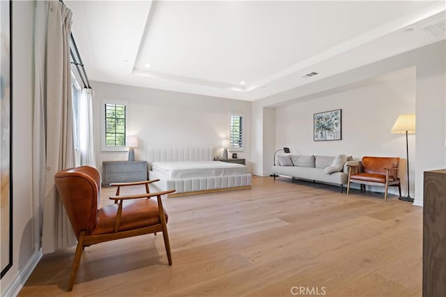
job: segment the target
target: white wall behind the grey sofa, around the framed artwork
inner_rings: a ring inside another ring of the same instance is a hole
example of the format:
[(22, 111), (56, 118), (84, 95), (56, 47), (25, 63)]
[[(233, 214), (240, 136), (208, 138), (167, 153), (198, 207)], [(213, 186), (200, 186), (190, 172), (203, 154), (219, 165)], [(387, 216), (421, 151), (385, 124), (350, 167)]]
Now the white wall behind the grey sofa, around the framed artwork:
[[(276, 109), (277, 147), (289, 146), (291, 153), (338, 155), (344, 153), (401, 158), (399, 176), (406, 186), (406, 137), (390, 133), (399, 114), (415, 113), (415, 69), (409, 77), (372, 84), (314, 100)], [(313, 141), (313, 114), (342, 109), (342, 140)], [(415, 137), (409, 135), (410, 192), (415, 195)], [(272, 162), (272, 161), (271, 161)], [(394, 189), (396, 190), (396, 189)], [(406, 191), (407, 192), (407, 191)]]

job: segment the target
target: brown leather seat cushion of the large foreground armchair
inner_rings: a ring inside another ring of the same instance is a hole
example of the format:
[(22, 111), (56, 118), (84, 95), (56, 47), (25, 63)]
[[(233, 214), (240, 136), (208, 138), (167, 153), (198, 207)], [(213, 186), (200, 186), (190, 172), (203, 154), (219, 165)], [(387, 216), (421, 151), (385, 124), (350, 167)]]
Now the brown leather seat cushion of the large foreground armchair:
[[(114, 224), (118, 204), (107, 205), (99, 209), (96, 227), (91, 234), (114, 233)], [(167, 213), (164, 211), (167, 222)], [(123, 201), (123, 213), (118, 231), (149, 227), (160, 224), (158, 203), (153, 199), (134, 199)]]

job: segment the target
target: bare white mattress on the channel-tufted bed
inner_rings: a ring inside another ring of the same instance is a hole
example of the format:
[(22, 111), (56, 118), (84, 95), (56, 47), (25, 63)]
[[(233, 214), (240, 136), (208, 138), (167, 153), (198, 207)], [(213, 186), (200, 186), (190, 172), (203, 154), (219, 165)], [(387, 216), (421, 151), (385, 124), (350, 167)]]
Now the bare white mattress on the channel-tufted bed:
[(153, 162), (152, 172), (169, 180), (247, 174), (247, 168), (219, 161)]

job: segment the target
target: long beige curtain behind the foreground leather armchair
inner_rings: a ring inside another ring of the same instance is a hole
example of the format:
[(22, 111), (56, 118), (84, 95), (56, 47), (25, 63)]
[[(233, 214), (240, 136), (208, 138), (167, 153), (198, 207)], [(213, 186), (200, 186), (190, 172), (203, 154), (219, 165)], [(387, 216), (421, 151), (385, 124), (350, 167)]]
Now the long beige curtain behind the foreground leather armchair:
[[(36, 36), (33, 193), (40, 211), (43, 209), (42, 248), (46, 254), (76, 244), (54, 185), (56, 172), (75, 165), (70, 74), (72, 13), (60, 1), (36, 2), (36, 14), (40, 14), (36, 15), (36, 28), (45, 31), (40, 35), (46, 43), (39, 44)], [(46, 27), (42, 25), (45, 17)], [(42, 146), (45, 146), (45, 155), (38, 153)]]

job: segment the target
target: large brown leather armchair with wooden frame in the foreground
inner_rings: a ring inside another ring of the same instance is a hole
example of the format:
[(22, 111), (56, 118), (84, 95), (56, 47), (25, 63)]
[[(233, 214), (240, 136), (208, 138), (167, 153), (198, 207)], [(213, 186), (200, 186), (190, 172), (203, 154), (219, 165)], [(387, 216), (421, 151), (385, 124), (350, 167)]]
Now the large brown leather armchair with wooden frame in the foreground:
[[(74, 285), (82, 251), (95, 243), (162, 232), (167, 259), (169, 265), (172, 264), (167, 234), (167, 213), (162, 207), (161, 196), (175, 190), (150, 193), (148, 183), (154, 181), (120, 183), (118, 189), (124, 185), (146, 185), (146, 194), (118, 196), (117, 191), (116, 197), (110, 197), (115, 204), (98, 209), (100, 174), (97, 169), (89, 166), (66, 169), (58, 172), (54, 180), (77, 237), (69, 291)], [(151, 197), (157, 197), (157, 201), (150, 199)]]

